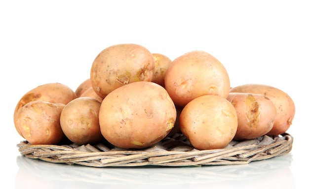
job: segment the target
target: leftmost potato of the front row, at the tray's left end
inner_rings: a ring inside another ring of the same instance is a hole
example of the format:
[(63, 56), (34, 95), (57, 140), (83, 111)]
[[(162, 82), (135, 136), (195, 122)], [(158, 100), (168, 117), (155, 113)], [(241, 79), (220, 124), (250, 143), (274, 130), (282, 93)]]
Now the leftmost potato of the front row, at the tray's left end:
[(59, 144), (65, 135), (60, 115), (65, 104), (32, 101), (16, 114), (16, 126), (31, 144)]

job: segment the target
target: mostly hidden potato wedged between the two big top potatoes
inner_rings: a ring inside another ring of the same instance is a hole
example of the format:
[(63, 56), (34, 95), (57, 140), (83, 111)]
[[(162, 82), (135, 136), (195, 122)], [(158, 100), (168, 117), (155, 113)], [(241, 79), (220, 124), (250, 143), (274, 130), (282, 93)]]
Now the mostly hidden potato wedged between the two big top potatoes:
[(154, 77), (153, 82), (164, 87), (164, 76), (166, 69), (172, 61), (165, 55), (153, 53), (154, 56)]

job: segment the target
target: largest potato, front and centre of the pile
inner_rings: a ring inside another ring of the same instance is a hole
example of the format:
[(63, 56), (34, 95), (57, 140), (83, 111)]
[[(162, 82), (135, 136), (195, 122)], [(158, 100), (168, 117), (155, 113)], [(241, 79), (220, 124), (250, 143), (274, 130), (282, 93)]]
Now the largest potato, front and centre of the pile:
[(153, 82), (123, 85), (102, 101), (101, 133), (111, 144), (124, 149), (142, 149), (163, 139), (176, 120), (174, 102), (166, 90)]

